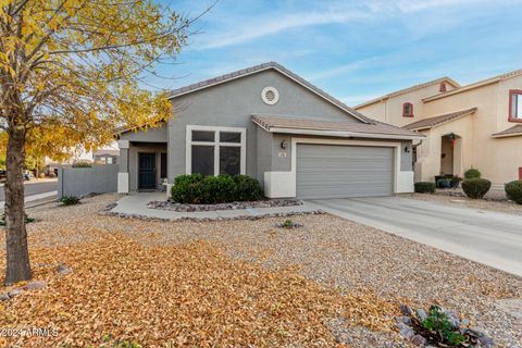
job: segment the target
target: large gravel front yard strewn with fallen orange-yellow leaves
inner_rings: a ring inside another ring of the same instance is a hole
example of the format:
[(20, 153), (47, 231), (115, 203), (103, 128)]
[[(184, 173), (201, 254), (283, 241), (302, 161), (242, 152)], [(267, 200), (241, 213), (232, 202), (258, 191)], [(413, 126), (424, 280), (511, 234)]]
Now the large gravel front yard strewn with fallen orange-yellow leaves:
[[(161, 222), (98, 214), (115, 199), (103, 195), (78, 207), (29, 211), (38, 219), (28, 225), (35, 279), (47, 286), (0, 302), (8, 314), (0, 316), (0, 326), (54, 322), (74, 343), (86, 343), (86, 333), (95, 339), (116, 332), (154, 347), (154, 333), (138, 328), (150, 321), (160, 337), (192, 330), (192, 336), (184, 335), (192, 345), (204, 327), (209, 346), (405, 347), (409, 343), (395, 328), (399, 304), (437, 303), (470, 319), (499, 347), (522, 346), (520, 320), (499, 306), (522, 298), (522, 279), (515, 276), (327, 214), (293, 216), (299, 228), (275, 226), (286, 217)], [(3, 266), (3, 240), (0, 248)], [(60, 261), (73, 271), (55, 278)], [(75, 295), (64, 298), (72, 289)], [(177, 297), (184, 289), (197, 297), (188, 302), (191, 310)], [(77, 297), (90, 302), (80, 306)], [(64, 303), (54, 309), (46, 301)], [(99, 301), (107, 307), (96, 318)], [(144, 301), (144, 313), (130, 309)], [(181, 306), (176, 321), (162, 314), (165, 303)], [(207, 306), (216, 313), (209, 314)], [(75, 324), (62, 312), (77, 315)], [(122, 331), (115, 318), (138, 326)], [(165, 320), (170, 332), (162, 326)]]

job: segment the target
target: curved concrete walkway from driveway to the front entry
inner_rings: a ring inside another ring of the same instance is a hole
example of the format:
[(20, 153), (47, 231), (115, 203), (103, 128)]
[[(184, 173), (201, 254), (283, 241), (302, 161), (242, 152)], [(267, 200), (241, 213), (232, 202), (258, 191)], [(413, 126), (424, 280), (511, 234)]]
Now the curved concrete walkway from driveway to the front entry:
[(198, 211), (198, 212), (175, 212), (161, 209), (149, 209), (147, 203), (154, 200), (165, 200), (165, 194), (132, 194), (122, 197), (117, 201), (117, 206), (111, 209), (112, 213), (141, 215), (147, 217), (156, 217), (163, 220), (182, 220), (182, 219), (240, 219), (252, 217), (268, 214), (293, 214), (314, 212), (318, 209), (309, 204), (294, 207), (275, 207), (275, 208), (256, 208), (256, 209), (236, 209), (236, 210), (216, 210), (216, 211)]

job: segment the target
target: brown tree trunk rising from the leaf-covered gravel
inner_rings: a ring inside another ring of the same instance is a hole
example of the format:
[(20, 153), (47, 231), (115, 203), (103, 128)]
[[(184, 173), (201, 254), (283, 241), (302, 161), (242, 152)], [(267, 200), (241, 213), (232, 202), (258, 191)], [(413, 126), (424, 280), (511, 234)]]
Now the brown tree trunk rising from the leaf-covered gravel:
[(32, 277), (27, 233), (25, 231), (24, 181), (25, 129), (10, 125), (8, 129), (7, 182), (5, 182), (5, 285)]

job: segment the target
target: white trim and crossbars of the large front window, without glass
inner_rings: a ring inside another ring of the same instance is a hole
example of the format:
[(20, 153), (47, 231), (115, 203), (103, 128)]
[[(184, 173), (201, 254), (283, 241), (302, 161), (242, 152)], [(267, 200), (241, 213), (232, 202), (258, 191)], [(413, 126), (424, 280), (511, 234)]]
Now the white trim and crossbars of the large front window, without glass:
[[(192, 141), (192, 130), (214, 132), (214, 141)], [(240, 142), (220, 142), (220, 132), (236, 132), (241, 134)], [(247, 172), (247, 128), (243, 127), (216, 127), (187, 125), (186, 145), (185, 145), (185, 173), (192, 174), (192, 145), (213, 146), (214, 147), (214, 175), (220, 174), (220, 147), (234, 146), (241, 148), (240, 174)]]

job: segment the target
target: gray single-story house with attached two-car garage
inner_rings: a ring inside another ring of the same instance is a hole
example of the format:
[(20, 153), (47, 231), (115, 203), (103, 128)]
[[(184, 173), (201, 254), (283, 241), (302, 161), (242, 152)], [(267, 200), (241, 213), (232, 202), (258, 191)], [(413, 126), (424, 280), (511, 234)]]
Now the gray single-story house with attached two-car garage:
[(182, 174), (246, 174), (269, 198), (389, 196), (413, 190), (412, 141), (270, 62), (170, 94), (159, 128), (119, 135), (120, 192)]

